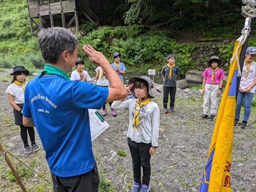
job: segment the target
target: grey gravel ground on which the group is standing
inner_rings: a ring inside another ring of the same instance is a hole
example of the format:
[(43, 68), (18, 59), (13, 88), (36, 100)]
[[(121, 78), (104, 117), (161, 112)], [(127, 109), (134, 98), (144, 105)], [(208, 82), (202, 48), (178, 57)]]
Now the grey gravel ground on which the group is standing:
[[(7, 80), (7, 82), (6, 82)], [(51, 181), (44, 158), (42, 144), (38, 152), (26, 155), (22, 150), (20, 130), (14, 125), (12, 108), (8, 102), (6, 88), (10, 85), (10, 76), (0, 72), (0, 143), (5, 150), (22, 162), (31, 165), (36, 161), (34, 170)], [(160, 106), (159, 148), (152, 155), (151, 192), (197, 192), (200, 188), (204, 166), (214, 123), (201, 120), (203, 97), (199, 91), (177, 90), (174, 112), (163, 114), (162, 93), (153, 90), (154, 101)], [(108, 115), (105, 120), (110, 127), (93, 141), (94, 155), (98, 169), (114, 187), (115, 192), (130, 191), (132, 181), (132, 161), (127, 145), (128, 110), (117, 111), (118, 116)], [(100, 110), (100, 113), (102, 110)], [(252, 111), (248, 129), (234, 128), (233, 155), (231, 166), (231, 184), (234, 192), (256, 191), (256, 110)], [(127, 156), (119, 156), (122, 150)], [(10, 158), (10, 157), (9, 157)], [(11, 158), (13, 160), (13, 158)], [(17, 161), (14, 160), (13, 163)], [(20, 173), (19, 173), (20, 174)], [(5, 192), (4, 163), (0, 156), (0, 191)], [(43, 180), (36, 174), (22, 178), (24, 186), (32, 191)], [(52, 191), (50, 184), (41, 184), (44, 188), (35, 191)], [(21, 191), (17, 184), (8, 184), (9, 191)]]

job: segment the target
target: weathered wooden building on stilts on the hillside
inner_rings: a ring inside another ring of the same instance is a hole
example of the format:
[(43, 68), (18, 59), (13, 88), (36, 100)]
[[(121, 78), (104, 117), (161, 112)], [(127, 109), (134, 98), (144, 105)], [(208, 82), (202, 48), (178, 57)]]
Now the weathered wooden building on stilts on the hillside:
[[(39, 29), (48, 26), (69, 28), (75, 21), (78, 32), (78, 19), (99, 22), (97, 15), (102, 13), (102, 0), (27, 0), (31, 32), (33, 23)], [(34, 20), (39, 18), (39, 24)]]

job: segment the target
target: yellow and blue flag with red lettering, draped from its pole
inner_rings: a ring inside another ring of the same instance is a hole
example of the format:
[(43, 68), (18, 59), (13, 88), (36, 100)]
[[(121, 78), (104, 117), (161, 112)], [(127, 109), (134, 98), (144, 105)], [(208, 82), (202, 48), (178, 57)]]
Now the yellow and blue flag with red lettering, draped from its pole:
[[(238, 75), (241, 36), (236, 40), (228, 80), (220, 102), (212, 141), (202, 177), (200, 192), (231, 192), (230, 168), (232, 159), (233, 127), (236, 110), (236, 80)], [(234, 57), (233, 57), (234, 58)]]

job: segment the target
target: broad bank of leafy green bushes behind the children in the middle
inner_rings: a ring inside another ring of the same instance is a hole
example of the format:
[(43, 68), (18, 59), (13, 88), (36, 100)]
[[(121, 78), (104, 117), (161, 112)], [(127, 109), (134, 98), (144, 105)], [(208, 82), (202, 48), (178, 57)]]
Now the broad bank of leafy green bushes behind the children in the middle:
[[(147, 73), (149, 68), (160, 71), (167, 64), (166, 57), (170, 53), (177, 55), (176, 64), (182, 75), (193, 63), (191, 54), (197, 47), (192, 44), (178, 44), (170, 38), (170, 32), (148, 31), (144, 26), (133, 25), (129, 27), (101, 27), (94, 30), (86, 37), (78, 36), (82, 44), (90, 44), (96, 50), (103, 52), (110, 63), (113, 62), (112, 54), (122, 54), (128, 72)], [(79, 48), (78, 56), (84, 62), (86, 70), (94, 70), (95, 66), (87, 55)]]

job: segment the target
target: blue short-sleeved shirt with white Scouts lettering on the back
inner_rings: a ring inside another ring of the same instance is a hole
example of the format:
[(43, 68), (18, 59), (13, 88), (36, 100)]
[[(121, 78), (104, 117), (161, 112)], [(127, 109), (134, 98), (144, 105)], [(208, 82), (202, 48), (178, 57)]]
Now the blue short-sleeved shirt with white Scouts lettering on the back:
[(52, 75), (30, 80), (24, 95), (23, 116), (34, 120), (50, 171), (70, 177), (92, 170), (88, 108), (100, 109), (108, 88)]

